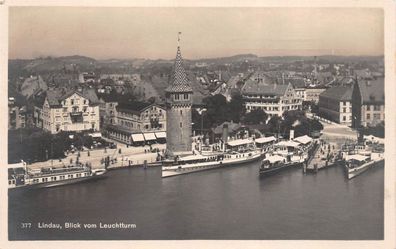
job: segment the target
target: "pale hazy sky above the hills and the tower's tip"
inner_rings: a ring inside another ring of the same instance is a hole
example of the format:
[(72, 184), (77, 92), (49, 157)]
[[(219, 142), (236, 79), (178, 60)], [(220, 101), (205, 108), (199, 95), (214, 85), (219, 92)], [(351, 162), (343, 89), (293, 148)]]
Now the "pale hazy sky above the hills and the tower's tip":
[(10, 7), (9, 58), (383, 55), (374, 8)]

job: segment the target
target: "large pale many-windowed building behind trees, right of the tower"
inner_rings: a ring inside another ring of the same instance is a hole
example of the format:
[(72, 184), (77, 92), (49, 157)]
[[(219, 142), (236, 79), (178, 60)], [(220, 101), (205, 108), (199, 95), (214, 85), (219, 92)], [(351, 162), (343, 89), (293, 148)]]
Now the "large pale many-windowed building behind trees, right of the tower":
[(270, 117), (282, 116), (285, 111), (302, 107), (302, 99), (291, 83), (277, 84), (265, 74), (256, 80), (248, 79), (242, 88), (242, 96), (247, 112), (262, 109)]

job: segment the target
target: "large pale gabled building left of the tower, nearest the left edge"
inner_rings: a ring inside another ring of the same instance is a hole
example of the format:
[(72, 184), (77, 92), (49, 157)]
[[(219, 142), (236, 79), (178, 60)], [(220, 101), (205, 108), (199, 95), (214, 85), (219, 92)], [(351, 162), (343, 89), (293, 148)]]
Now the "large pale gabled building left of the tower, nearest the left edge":
[(42, 100), (34, 108), (37, 127), (52, 134), (100, 129), (99, 100), (93, 89), (48, 90)]

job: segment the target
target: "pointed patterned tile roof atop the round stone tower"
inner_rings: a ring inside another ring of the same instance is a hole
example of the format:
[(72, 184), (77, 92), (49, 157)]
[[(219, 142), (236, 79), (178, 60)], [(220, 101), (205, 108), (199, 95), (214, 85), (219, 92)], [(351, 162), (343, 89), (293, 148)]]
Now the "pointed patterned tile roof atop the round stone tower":
[(192, 92), (193, 89), (187, 78), (183, 67), (183, 58), (180, 52), (180, 46), (177, 47), (174, 72), (171, 84), (166, 88), (166, 92)]

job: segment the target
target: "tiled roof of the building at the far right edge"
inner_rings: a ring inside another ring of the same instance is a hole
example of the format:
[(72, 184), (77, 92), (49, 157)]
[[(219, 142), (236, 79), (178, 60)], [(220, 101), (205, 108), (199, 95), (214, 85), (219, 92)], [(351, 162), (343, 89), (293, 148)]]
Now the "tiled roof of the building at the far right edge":
[(375, 80), (359, 80), (360, 93), (362, 95), (363, 103), (384, 103), (384, 78), (377, 78)]

